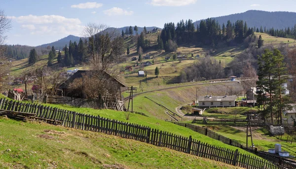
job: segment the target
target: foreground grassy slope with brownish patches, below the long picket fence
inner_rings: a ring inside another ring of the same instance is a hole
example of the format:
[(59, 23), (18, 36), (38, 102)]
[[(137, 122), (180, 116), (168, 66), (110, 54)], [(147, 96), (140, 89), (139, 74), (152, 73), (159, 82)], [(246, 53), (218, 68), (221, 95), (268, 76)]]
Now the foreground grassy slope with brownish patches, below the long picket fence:
[(1, 169), (236, 169), (113, 135), (0, 118)]

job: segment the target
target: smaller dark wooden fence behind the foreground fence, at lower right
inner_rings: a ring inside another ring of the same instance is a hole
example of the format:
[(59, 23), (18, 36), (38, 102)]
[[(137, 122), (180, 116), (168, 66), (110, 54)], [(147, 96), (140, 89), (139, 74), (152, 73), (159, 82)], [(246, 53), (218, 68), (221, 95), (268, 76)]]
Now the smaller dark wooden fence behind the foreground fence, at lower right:
[(274, 155), (271, 155), (271, 154), (268, 154), (265, 152), (258, 151), (257, 148), (253, 149), (251, 147), (246, 147), (246, 146), (242, 145), (240, 142), (230, 139), (228, 137), (225, 137), (223, 135), (220, 135), (216, 132), (213, 132), (212, 130), (210, 130), (206, 127), (196, 126), (196, 125), (192, 125), (189, 123), (182, 123), (182, 122), (172, 122), (172, 123), (177, 124), (179, 126), (189, 128), (189, 129), (193, 130), (194, 132), (200, 133), (202, 135), (207, 135), (213, 139), (220, 140), (225, 144), (239, 147), (239, 148), (246, 150), (250, 153), (256, 154), (259, 157), (262, 157), (268, 161), (272, 161), (275, 164), (279, 164), (280, 166), (283, 167), (283, 169), (296, 169), (296, 162), (294, 162), (294, 161), (282, 159), (281, 157), (277, 157), (277, 156), (274, 156)]

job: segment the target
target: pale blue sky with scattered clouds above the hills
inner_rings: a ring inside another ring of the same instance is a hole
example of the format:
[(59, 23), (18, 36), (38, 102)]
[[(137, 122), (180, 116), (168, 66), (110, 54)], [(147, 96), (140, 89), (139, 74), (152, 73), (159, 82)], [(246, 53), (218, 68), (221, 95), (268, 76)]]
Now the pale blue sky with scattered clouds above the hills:
[(163, 28), (182, 19), (197, 21), (247, 10), (296, 12), (295, 0), (0, 0), (12, 21), (6, 44), (37, 46), (73, 34), (88, 23)]

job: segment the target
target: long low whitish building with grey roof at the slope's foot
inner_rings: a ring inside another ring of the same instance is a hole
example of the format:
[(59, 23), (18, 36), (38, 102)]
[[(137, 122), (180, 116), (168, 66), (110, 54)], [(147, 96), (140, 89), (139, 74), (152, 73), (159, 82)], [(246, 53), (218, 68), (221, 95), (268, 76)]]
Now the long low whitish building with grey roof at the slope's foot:
[(234, 107), (236, 96), (205, 96), (198, 98), (199, 107)]

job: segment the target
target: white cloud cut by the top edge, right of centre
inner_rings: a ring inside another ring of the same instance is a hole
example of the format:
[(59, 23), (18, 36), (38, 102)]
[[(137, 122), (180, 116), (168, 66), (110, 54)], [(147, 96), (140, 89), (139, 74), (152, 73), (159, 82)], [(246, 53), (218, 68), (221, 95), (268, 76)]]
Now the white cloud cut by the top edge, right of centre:
[(185, 6), (195, 3), (197, 0), (151, 0), (153, 6)]

